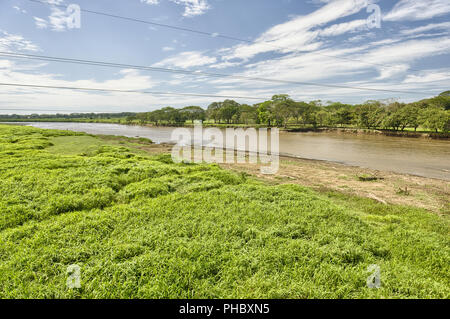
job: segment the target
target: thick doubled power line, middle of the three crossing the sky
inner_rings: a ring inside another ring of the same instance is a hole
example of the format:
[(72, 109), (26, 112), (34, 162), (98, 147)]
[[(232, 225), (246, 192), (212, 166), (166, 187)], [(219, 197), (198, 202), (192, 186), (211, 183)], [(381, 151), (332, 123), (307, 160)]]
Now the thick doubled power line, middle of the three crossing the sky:
[(299, 82), (299, 81), (289, 81), (289, 80), (279, 80), (279, 79), (268, 79), (268, 78), (249, 77), (249, 76), (233, 75), (233, 74), (212, 73), (212, 72), (203, 72), (203, 71), (189, 71), (189, 70), (181, 70), (181, 69), (162, 68), (162, 67), (149, 67), (149, 66), (142, 66), (142, 65), (112, 63), (112, 62), (105, 62), (105, 61), (60, 58), (60, 57), (52, 57), (52, 56), (45, 56), (45, 55), (22, 54), (22, 53), (16, 53), (16, 52), (0, 51), (0, 56), (10, 57), (10, 58), (23, 58), (23, 59), (32, 59), (32, 60), (40, 60), (40, 61), (49, 61), (49, 62), (72, 63), (72, 64), (80, 64), (80, 65), (92, 65), (92, 66), (103, 66), (103, 67), (113, 67), (113, 68), (128, 68), (128, 69), (136, 69), (136, 70), (143, 70), (143, 71), (150, 71), (150, 72), (165, 72), (165, 73), (207, 76), (207, 77), (216, 77), (216, 78), (224, 78), (225, 77), (225, 78), (234, 78), (234, 79), (239, 79), (239, 80), (262, 81), (262, 82), (291, 84), (291, 85), (309, 85), (309, 86), (318, 86), (318, 87), (327, 87), (327, 88), (340, 88), (340, 89), (389, 92), (389, 93), (403, 93), (403, 94), (419, 94), (419, 95), (429, 95), (430, 94), (429, 92), (425, 93), (425, 92), (418, 92), (418, 91), (389, 90), (389, 89), (357, 87), (357, 86), (349, 86), (349, 85), (323, 84), (323, 83), (313, 83), (313, 82)]

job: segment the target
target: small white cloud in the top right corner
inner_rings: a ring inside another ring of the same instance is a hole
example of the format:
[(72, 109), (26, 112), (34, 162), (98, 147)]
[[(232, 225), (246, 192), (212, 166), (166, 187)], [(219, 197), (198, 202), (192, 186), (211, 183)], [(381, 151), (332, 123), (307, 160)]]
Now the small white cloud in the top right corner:
[(387, 13), (385, 21), (425, 20), (450, 12), (449, 0), (400, 0)]

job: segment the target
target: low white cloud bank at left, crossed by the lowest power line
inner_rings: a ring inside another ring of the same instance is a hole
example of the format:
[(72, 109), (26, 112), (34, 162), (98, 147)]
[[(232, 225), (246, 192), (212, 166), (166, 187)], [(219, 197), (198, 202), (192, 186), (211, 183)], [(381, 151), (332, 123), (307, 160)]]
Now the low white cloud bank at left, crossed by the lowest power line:
[[(149, 90), (158, 82), (148, 75), (142, 75), (137, 70), (121, 70), (113, 79), (97, 81), (94, 79), (65, 80), (58, 74), (45, 72), (18, 71), (18, 65), (8, 60), (0, 60), (0, 82), (38, 84), (44, 86), (69, 86), (119, 90)], [(208, 98), (200, 99), (209, 100)], [(184, 103), (195, 104), (198, 98), (183, 98), (176, 96), (158, 96), (135, 93), (101, 93), (73, 90), (58, 90), (46, 88), (20, 88), (0, 86), (0, 101), (2, 108), (64, 109), (67, 112), (111, 112), (111, 111), (148, 111), (167, 103), (180, 106)], [(124, 108), (124, 106), (127, 106)], [(20, 107), (18, 107), (20, 106)], [(8, 111), (9, 113), (18, 113)], [(31, 113), (26, 111), (24, 113)], [(51, 112), (47, 112), (51, 113)]]

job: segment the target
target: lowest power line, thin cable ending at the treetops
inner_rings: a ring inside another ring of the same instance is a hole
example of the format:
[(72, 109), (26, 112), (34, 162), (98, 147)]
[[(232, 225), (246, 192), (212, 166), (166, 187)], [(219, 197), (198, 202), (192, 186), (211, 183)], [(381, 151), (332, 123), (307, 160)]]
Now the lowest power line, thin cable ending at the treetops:
[(265, 100), (266, 99), (263, 97), (250, 97), (250, 96), (230, 96), (230, 95), (212, 95), (212, 94), (200, 94), (200, 93), (157, 92), (157, 91), (140, 91), (140, 90), (119, 90), (119, 89), (85, 88), (85, 87), (74, 87), (74, 86), (52, 86), (52, 85), (19, 84), (19, 83), (0, 83), (0, 86), (94, 91), (94, 92), (112, 92), (112, 93), (142, 93), (142, 94), (151, 94), (151, 95), (170, 95), (170, 96), (217, 97), (217, 98), (225, 98), (225, 99), (247, 99), (247, 100)]

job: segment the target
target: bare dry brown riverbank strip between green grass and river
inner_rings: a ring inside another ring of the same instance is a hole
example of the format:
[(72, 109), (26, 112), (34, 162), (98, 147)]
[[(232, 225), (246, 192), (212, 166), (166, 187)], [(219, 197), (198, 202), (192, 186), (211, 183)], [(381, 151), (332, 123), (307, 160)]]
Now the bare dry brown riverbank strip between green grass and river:
[[(116, 139), (99, 136), (105, 141)], [(133, 146), (148, 154), (170, 154), (171, 144)], [(410, 174), (373, 170), (328, 161), (281, 156), (280, 169), (274, 175), (263, 175), (254, 164), (220, 164), (221, 167), (248, 174), (270, 185), (298, 184), (324, 195), (339, 193), (394, 204), (427, 209), (450, 216), (450, 182)]]

